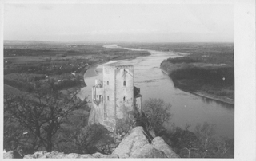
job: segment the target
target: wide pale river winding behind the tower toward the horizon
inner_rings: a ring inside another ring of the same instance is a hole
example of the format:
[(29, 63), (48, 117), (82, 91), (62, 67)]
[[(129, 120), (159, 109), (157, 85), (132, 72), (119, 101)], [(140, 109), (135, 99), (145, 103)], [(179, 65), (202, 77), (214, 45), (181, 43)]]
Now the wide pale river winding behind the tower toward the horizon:
[[(104, 47), (120, 48), (118, 45), (104, 45)], [(208, 122), (216, 125), (216, 136), (234, 138), (234, 105), (183, 92), (175, 88), (170, 77), (160, 69), (160, 64), (164, 59), (182, 57), (182, 53), (147, 49), (130, 50), (146, 50), (151, 55), (108, 63), (118, 62), (122, 65), (134, 65), (134, 85), (141, 88), (142, 101), (149, 98), (160, 98), (166, 104), (171, 104), (170, 112), (173, 116), (170, 123), (166, 125), (167, 128), (171, 127), (173, 123), (181, 128), (185, 128), (186, 124), (191, 124), (190, 130), (194, 131), (197, 124)], [(102, 65), (95, 65), (87, 70), (84, 78), (87, 86), (81, 89), (78, 96), (91, 100), (91, 88), (94, 85), (94, 80), (102, 79)]]

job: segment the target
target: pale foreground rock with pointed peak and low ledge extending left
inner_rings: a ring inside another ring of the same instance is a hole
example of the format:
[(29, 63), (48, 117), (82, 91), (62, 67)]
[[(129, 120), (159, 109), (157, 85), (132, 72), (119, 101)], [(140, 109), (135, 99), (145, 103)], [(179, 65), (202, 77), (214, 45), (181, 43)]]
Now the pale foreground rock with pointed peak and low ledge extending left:
[[(39, 158), (178, 158), (179, 156), (166, 144), (161, 137), (150, 140), (142, 127), (136, 127), (122, 139), (122, 142), (111, 155), (95, 153), (80, 155), (75, 153), (37, 151), (33, 155), (25, 155), (24, 159)], [(13, 151), (4, 154), (4, 159), (14, 158)]]

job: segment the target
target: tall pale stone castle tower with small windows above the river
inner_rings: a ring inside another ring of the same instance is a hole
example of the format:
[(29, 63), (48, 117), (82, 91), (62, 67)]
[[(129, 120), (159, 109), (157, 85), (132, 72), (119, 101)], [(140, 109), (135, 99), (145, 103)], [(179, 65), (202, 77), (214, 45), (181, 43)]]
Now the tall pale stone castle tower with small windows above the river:
[(115, 129), (117, 120), (142, 111), (140, 88), (134, 87), (133, 65), (103, 65), (103, 81), (95, 80), (89, 124)]

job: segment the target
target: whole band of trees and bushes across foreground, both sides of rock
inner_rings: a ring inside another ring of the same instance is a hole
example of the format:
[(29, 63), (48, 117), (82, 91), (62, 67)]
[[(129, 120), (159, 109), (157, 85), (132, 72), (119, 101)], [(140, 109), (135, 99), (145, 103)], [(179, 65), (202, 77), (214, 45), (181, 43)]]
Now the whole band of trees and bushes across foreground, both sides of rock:
[(181, 157), (234, 157), (234, 140), (215, 139), (212, 124), (198, 124), (194, 132), (190, 125), (185, 130), (164, 128), (171, 113), (170, 104), (161, 99), (146, 100), (141, 114), (127, 113), (128, 119), (118, 121), (112, 133), (99, 124), (87, 125), (90, 108), (75, 93), (64, 96), (39, 82), (37, 87), (34, 95), (5, 95), (4, 149), (14, 150), (17, 157), (34, 151), (110, 154), (118, 145), (114, 133), (124, 136), (134, 126), (142, 126), (149, 140), (161, 136)]

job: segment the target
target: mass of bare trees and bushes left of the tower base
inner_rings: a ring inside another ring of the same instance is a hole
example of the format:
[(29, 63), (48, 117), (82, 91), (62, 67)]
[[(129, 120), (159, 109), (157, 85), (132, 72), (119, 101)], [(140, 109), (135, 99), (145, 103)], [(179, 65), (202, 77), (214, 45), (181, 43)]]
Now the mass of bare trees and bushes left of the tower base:
[(90, 108), (76, 95), (63, 95), (52, 84), (39, 81), (30, 94), (5, 95), (4, 149), (22, 149), (23, 155), (107, 151), (102, 147), (114, 141), (110, 132), (101, 125), (87, 125)]

